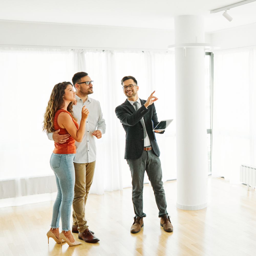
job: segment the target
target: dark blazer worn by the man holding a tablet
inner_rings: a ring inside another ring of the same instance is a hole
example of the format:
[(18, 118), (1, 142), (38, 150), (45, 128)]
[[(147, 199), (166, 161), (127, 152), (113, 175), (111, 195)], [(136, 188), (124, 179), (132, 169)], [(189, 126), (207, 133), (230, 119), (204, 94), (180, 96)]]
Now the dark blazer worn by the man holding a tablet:
[(134, 107), (127, 99), (123, 104), (115, 108), (116, 116), (122, 123), (126, 132), (124, 159), (138, 159), (142, 155), (144, 148), (144, 131), (140, 122), (142, 117), (144, 118), (152, 150), (157, 156), (160, 156), (152, 124), (152, 121), (154, 125), (158, 123), (155, 105), (153, 103), (146, 108), (144, 106), (146, 100), (140, 99), (140, 101), (141, 108), (137, 111), (135, 111)]

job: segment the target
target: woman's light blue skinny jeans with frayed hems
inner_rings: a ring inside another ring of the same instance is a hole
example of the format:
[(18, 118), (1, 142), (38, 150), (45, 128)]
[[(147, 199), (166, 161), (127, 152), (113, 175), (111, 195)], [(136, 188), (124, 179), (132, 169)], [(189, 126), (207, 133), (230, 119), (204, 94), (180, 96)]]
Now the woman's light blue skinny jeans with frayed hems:
[(71, 205), (74, 198), (75, 185), (75, 154), (52, 153), (50, 165), (56, 177), (58, 188), (53, 206), (51, 228), (58, 228), (61, 218), (62, 230), (70, 230)]

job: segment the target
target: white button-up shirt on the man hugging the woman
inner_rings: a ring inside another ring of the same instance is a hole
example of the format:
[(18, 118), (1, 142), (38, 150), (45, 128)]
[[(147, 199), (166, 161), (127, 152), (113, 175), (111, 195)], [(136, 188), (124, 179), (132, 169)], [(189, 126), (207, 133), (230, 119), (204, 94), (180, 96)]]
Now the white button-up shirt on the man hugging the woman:
[[(83, 103), (83, 100), (76, 95), (77, 104), (73, 105), (74, 117), (77, 119), (80, 125), (82, 117), (82, 108), (86, 105), (89, 111), (88, 118), (86, 119), (85, 131), (81, 142), (75, 142), (76, 155), (74, 163), (84, 164), (91, 163), (96, 160), (96, 144), (95, 136), (92, 133), (95, 130), (101, 131), (102, 134), (106, 131), (105, 120), (100, 108), (100, 102), (92, 98), (87, 97), (87, 100)], [(96, 129), (97, 128), (97, 129)], [(48, 133), (49, 140), (52, 140), (52, 133)]]

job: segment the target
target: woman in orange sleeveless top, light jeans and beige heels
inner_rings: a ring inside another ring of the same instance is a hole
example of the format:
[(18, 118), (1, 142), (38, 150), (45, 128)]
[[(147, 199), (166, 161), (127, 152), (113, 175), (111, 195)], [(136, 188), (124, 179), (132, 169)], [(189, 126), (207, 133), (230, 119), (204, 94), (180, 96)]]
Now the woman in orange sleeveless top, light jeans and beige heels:
[[(50, 158), (50, 166), (55, 174), (58, 188), (57, 197), (53, 206), (51, 229), (47, 232), (57, 243), (62, 239), (69, 246), (81, 244), (75, 241), (70, 232), (71, 205), (74, 198), (75, 170), (74, 156), (76, 153), (75, 140), (82, 141), (88, 109), (83, 106), (80, 127), (73, 116), (72, 104), (76, 92), (70, 82), (58, 83), (54, 86), (46, 112), (44, 115), (43, 130), (59, 134), (69, 133), (69, 139), (63, 143), (54, 143), (55, 148)], [(59, 233), (59, 220), (61, 218), (62, 232)], [(63, 242), (64, 242), (63, 241)]]

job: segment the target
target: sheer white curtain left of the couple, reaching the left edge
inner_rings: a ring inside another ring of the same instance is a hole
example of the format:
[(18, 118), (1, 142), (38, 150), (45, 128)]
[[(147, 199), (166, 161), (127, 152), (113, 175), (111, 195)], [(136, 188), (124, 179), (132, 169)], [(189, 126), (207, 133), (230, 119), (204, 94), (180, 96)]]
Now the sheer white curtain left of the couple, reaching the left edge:
[(53, 86), (73, 73), (71, 50), (0, 48), (0, 199), (56, 191), (43, 114)]

